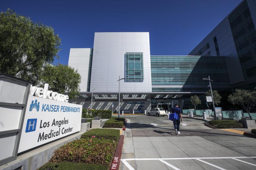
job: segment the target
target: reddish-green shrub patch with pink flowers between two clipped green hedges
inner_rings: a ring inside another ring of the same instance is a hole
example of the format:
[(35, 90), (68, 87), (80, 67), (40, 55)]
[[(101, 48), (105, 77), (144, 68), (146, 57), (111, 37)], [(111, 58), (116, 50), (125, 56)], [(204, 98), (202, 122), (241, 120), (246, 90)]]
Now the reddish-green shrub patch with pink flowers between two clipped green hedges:
[[(62, 145), (54, 151), (51, 163), (78, 162), (110, 167), (117, 141), (105, 138), (82, 138)], [(72, 169), (72, 168), (71, 168)]]

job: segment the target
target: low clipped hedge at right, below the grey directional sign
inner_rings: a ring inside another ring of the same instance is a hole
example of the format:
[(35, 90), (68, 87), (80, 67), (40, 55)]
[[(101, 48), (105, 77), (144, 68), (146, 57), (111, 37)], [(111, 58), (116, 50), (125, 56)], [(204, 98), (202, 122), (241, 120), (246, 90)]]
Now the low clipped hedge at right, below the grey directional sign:
[(220, 129), (244, 128), (242, 123), (239, 123), (238, 121), (234, 121), (234, 120), (212, 120), (212, 121), (209, 121), (208, 124)]

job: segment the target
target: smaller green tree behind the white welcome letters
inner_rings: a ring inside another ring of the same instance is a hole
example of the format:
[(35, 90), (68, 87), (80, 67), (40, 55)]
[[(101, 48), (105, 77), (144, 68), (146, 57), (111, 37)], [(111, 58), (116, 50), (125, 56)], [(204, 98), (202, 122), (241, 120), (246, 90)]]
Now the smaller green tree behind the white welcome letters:
[(70, 66), (48, 64), (41, 75), (41, 82), (48, 83), (49, 89), (52, 91), (61, 94), (67, 92), (69, 99), (76, 99), (80, 91), (81, 76), (77, 70)]

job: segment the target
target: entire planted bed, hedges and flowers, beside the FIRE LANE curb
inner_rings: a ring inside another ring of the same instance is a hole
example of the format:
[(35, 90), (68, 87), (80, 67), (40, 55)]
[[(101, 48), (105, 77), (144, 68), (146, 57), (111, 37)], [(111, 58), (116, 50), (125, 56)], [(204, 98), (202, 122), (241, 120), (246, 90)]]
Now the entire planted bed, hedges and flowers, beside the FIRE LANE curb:
[(116, 129), (87, 131), (80, 139), (68, 142), (56, 149), (49, 163), (42, 166), (40, 170), (86, 170), (86, 166), (95, 170), (109, 169), (119, 138), (120, 131)]

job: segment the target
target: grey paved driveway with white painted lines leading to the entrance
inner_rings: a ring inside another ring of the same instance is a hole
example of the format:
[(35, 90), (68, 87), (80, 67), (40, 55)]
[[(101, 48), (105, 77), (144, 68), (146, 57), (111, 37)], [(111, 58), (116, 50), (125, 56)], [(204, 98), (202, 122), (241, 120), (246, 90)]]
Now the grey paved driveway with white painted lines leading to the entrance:
[(188, 118), (181, 122), (181, 134), (175, 135), (167, 117), (123, 117), (130, 121), (120, 170), (256, 169), (254, 138), (211, 129), (204, 121)]

